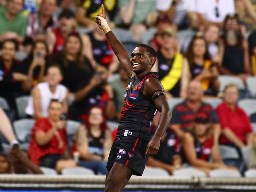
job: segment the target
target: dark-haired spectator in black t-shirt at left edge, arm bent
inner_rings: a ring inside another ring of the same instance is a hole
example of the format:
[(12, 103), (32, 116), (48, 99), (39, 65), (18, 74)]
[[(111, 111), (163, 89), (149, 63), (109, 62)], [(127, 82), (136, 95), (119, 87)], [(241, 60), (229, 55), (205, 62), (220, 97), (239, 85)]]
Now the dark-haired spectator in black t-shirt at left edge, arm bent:
[(12, 109), (16, 109), (15, 98), (28, 92), (31, 79), (19, 61), (15, 60), (19, 43), (15, 39), (7, 39), (2, 44), (0, 57), (0, 96), (4, 97)]

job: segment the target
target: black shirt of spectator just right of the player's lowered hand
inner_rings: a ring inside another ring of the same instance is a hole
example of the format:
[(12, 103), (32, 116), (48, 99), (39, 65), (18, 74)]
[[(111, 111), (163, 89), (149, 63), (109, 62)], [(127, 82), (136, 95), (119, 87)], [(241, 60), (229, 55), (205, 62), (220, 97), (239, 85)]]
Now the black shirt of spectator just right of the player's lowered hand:
[[(152, 138), (154, 134), (155, 130), (152, 129), (152, 131), (150, 131), (150, 137)], [(158, 153), (153, 157), (158, 161), (167, 164), (173, 164), (173, 155), (180, 154), (180, 144), (178, 138), (173, 129), (170, 128), (166, 130), (166, 133), (163, 137), (165, 138), (164, 140), (160, 141), (160, 148), (158, 150)]]

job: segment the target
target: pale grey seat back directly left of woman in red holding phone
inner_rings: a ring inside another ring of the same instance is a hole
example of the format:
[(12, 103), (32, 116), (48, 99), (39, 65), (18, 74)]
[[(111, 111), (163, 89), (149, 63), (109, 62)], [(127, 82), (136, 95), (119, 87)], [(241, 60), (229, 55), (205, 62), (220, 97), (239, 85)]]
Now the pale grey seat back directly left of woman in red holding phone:
[(13, 122), (13, 128), (18, 140), (22, 143), (25, 142), (27, 135), (31, 134), (31, 129), (35, 124), (33, 119), (20, 119)]

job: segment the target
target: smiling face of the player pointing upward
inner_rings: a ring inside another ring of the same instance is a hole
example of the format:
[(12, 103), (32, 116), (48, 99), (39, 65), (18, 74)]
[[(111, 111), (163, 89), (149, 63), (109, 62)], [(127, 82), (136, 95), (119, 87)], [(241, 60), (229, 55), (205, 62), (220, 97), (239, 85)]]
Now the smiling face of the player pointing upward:
[(136, 74), (150, 71), (156, 60), (156, 57), (152, 57), (145, 47), (135, 47), (131, 56), (132, 71)]

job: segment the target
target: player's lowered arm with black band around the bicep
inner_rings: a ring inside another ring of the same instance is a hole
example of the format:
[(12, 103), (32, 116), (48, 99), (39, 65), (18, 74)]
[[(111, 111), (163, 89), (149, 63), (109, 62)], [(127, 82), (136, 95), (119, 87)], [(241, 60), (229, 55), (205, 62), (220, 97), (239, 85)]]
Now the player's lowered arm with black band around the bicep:
[(147, 145), (146, 157), (148, 157), (149, 154), (155, 155), (158, 153), (161, 137), (171, 120), (171, 109), (167, 103), (163, 85), (158, 79), (148, 78), (145, 81), (143, 94), (147, 99), (152, 100), (156, 109), (161, 112), (156, 133)]

